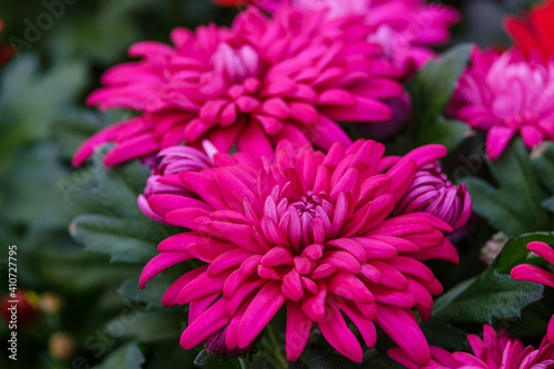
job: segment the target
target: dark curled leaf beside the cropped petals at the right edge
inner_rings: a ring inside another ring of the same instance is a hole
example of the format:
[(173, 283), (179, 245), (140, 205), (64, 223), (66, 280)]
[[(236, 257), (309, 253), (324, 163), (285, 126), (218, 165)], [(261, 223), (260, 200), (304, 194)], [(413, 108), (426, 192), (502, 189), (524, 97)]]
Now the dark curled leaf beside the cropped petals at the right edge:
[(525, 260), (530, 253), (527, 249), (530, 242), (540, 240), (552, 245), (554, 243), (553, 235), (552, 232), (536, 232), (510, 238), (499, 256), (499, 273), (510, 273), (514, 266)]

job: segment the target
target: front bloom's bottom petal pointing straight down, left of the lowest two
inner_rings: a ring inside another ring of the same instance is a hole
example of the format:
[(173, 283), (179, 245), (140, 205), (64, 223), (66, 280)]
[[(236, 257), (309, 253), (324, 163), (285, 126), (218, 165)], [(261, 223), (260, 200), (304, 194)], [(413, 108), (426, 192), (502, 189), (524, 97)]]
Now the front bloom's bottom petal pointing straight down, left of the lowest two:
[(308, 342), (311, 320), (302, 312), (300, 303), (287, 301), (286, 351), (289, 361), (296, 361)]

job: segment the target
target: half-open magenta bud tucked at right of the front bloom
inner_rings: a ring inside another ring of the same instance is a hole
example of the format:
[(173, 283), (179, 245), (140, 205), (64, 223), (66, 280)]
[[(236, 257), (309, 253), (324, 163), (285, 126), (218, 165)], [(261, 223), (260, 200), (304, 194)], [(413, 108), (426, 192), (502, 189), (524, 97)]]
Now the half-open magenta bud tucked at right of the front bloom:
[(458, 230), (470, 218), (471, 205), (471, 196), (465, 185), (453, 185), (437, 163), (429, 163), (416, 172), (410, 187), (397, 206), (397, 212), (430, 213)]

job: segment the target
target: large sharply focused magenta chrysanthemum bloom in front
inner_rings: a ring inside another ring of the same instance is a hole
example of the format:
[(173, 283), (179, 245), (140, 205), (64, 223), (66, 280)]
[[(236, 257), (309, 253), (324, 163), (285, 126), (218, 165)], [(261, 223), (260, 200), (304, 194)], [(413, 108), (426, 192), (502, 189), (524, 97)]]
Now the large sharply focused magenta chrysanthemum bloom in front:
[[(194, 193), (181, 208), (152, 208), (192, 232), (172, 236), (144, 267), (141, 287), (160, 271), (197, 258), (206, 265), (178, 278), (163, 304), (189, 305), (181, 345), (199, 345), (224, 327), (228, 349), (248, 347), (284, 305), (286, 351), (298, 359), (316, 322), (327, 341), (361, 361), (379, 325), (409, 357), (424, 365), (429, 346), (412, 308), (427, 319), (442, 291), (420, 260), (458, 262), (444, 238), (452, 228), (428, 213), (393, 215), (416, 171), (445, 154), (441, 145), (382, 157), (384, 146), (357, 141), (277, 146), (273, 158), (216, 154), (214, 167), (181, 173)], [(176, 181), (175, 181), (176, 183)], [(155, 202), (155, 201), (154, 201)], [(193, 204), (194, 203), (194, 204)]]

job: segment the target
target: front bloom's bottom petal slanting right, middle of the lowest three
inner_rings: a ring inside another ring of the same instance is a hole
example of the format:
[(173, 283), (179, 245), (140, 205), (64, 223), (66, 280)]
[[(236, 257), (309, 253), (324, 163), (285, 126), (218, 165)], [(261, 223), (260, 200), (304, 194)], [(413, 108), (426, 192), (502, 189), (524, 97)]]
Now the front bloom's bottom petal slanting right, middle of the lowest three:
[(345, 318), (334, 304), (327, 304), (325, 317), (317, 325), (321, 335), (337, 351), (350, 360), (361, 362), (363, 352), (360, 342), (348, 329)]

